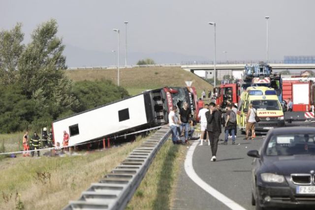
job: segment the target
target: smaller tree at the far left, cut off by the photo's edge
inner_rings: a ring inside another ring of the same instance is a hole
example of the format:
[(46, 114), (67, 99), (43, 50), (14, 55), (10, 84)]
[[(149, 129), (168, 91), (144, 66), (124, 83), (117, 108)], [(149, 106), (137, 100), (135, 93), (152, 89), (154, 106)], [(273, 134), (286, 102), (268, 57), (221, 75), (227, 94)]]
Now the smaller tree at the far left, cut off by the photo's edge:
[(0, 31), (0, 85), (11, 85), (16, 81), (19, 58), (24, 50), (24, 33), (18, 23), (12, 30)]

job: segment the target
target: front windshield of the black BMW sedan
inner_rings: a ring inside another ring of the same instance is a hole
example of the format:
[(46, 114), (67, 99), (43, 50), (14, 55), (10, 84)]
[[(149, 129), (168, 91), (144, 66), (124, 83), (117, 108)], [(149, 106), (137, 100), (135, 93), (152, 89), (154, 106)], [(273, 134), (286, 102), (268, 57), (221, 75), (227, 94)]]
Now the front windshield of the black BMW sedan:
[(315, 134), (287, 134), (271, 137), (266, 155), (315, 154)]

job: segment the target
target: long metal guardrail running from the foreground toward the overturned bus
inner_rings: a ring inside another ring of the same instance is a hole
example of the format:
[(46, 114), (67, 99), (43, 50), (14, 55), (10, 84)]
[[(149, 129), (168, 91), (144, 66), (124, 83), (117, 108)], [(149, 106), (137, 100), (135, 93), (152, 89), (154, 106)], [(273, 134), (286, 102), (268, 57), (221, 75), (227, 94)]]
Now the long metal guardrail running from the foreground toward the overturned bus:
[(82, 192), (79, 200), (70, 201), (63, 210), (125, 209), (170, 132), (168, 126), (160, 128), (140, 147), (134, 149), (121, 165), (97, 183), (92, 183)]

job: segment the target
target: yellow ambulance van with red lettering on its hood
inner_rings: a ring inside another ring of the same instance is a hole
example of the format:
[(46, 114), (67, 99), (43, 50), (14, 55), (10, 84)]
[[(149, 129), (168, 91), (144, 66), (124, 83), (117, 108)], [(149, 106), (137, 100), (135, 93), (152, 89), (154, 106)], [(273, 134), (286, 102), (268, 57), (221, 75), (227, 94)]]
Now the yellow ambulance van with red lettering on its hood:
[(256, 132), (267, 132), (275, 127), (284, 126), (284, 112), (276, 90), (267, 87), (249, 87), (242, 92), (238, 104), (237, 125), (241, 131), (246, 130), (246, 116), (250, 103), (260, 119), (255, 124)]

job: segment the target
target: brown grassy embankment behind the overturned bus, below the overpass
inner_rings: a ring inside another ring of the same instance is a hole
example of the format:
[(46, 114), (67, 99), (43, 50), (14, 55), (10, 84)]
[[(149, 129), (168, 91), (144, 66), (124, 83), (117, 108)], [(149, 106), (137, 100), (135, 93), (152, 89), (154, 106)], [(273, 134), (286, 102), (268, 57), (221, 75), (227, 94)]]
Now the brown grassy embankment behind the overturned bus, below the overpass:
[[(66, 74), (73, 81), (108, 79), (117, 84), (116, 69), (89, 69), (69, 70)], [(135, 67), (120, 69), (120, 85), (128, 90), (130, 95), (151, 90), (169, 87), (186, 86), (185, 81), (192, 81), (197, 89), (198, 96), (203, 89), (206, 91), (213, 87), (206, 81), (180, 67)]]

